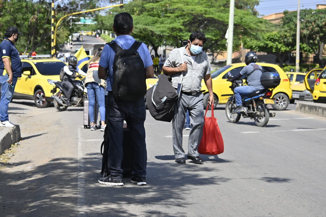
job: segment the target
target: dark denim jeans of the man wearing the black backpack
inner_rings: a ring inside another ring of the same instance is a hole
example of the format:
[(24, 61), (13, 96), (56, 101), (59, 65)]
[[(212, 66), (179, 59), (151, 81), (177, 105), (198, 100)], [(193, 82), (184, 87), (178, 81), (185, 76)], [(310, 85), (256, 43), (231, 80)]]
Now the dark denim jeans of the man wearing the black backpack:
[(144, 127), (146, 109), (144, 97), (135, 102), (120, 102), (115, 100), (112, 94), (109, 94), (106, 100), (106, 110), (110, 141), (108, 167), (111, 176), (122, 177), (123, 123), (126, 120), (132, 145), (134, 146), (134, 168), (131, 174), (146, 178), (147, 151)]

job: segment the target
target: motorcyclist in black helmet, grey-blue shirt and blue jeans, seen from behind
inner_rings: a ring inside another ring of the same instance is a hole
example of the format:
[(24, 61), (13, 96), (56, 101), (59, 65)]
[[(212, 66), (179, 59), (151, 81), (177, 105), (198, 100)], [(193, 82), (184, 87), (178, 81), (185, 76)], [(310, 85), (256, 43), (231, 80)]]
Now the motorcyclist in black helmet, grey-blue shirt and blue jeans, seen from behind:
[(257, 54), (254, 51), (249, 51), (244, 56), (246, 66), (240, 71), (238, 75), (230, 79), (230, 81), (239, 80), (241, 76), (246, 76), (247, 86), (240, 86), (234, 88), (234, 97), (237, 107), (232, 113), (244, 111), (242, 106), (242, 96), (249, 95), (255, 91), (262, 90), (264, 87), (261, 85), (260, 76), (262, 74), (262, 67), (257, 65)]

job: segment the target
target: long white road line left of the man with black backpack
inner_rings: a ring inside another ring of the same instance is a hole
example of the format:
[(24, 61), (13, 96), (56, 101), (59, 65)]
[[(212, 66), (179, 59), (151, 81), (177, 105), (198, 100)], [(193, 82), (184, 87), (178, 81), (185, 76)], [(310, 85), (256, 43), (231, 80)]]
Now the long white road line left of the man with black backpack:
[(85, 170), (85, 166), (84, 166), (84, 162), (83, 162), (83, 152), (82, 152), (82, 133), (81, 133), (80, 128), (77, 128), (78, 131), (78, 168), (76, 173), (78, 176), (78, 183), (77, 183), (77, 210), (78, 210), (78, 216), (86, 216), (86, 198), (85, 198), (85, 174), (84, 174), (84, 170)]

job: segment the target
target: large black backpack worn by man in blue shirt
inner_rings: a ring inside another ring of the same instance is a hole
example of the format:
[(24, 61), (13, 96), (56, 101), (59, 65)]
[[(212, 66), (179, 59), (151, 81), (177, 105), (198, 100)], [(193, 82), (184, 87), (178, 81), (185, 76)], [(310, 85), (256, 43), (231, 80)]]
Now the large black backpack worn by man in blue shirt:
[(113, 61), (113, 97), (123, 102), (133, 102), (144, 97), (147, 91), (144, 63), (137, 49), (142, 42), (123, 50), (115, 41), (107, 43), (116, 53)]

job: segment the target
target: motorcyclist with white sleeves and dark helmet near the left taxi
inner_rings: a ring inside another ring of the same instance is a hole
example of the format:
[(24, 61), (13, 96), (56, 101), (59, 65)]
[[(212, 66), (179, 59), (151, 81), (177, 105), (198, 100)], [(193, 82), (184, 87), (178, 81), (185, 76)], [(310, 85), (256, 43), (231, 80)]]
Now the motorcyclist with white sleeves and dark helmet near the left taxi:
[(69, 56), (67, 58), (68, 61), (68, 65), (65, 65), (63, 67), (63, 70), (65, 72), (65, 75), (63, 77), (62, 80), (62, 84), (63, 87), (67, 90), (67, 106), (71, 106), (71, 95), (72, 95), (72, 91), (74, 90), (74, 85), (72, 84), (72, 81), (75, 80), (75, 78), (77, 77), (76, 72), (78, 72), (79, 74), (86, 76), (86, 73), (83, 72), (81, 69), (77, 68), (77, 57), (75, 56)]

